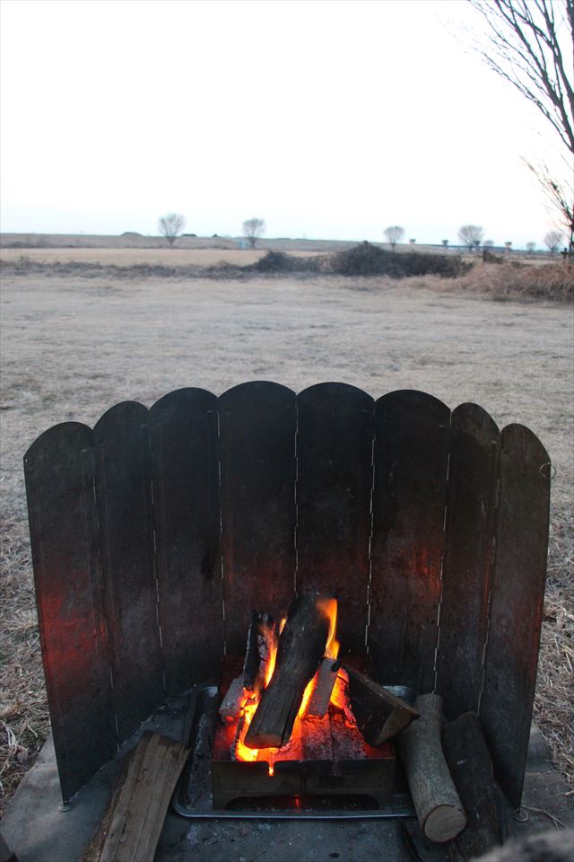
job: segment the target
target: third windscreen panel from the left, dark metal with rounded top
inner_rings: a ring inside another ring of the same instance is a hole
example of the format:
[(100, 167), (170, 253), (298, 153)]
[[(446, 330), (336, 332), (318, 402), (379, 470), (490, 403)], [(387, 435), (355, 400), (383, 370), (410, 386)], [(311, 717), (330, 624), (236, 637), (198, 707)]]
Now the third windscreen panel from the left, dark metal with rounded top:
[(150, 423), (161, 653), (174, 694), (216, 682), (223, 653), (217, 399), (178, 389)]

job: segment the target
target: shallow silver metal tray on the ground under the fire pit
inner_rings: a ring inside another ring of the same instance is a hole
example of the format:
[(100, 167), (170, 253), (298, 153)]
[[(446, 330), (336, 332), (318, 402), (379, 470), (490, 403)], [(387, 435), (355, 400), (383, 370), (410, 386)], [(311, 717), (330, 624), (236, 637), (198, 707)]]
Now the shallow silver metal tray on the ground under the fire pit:
[[(404, 686), (386, 686), (386, 688), (397, 697), (413, 702), (412, 690)], [(300, 800), (300, 807), (293, 808), (287, 807), (287, 800), (284, 799), (268, 801), (257, 799), (253, 804), (246, 802), (244, 807), (239, 807), (242, 801), (238, 800), (238, 807), (214, 809), (211, 767), (218, 707), (217, 686), (204, 685), (192, 691), (183, 732), (183, 741), (189, 746), (190, 754), (171, 800), (172, 807), (182, 817), (235, 820), (358, 820), (414, 816), (413, 803), (406, 787), (404, 789), (397, 787), (387, 806), (373, 809), (361, 807), (360, 796), (354, 803), (352, 797), (337, 799), (337, 797), (313, 796)], [(400, 779), (398, 784), (400, 785)]]

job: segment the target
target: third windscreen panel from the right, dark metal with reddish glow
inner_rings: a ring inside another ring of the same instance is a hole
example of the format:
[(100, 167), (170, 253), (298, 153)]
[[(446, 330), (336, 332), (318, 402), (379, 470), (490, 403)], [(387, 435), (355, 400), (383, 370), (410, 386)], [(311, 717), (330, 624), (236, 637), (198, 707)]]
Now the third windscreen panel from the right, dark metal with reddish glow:
[(434, 686), (449, 426), (424, 392), (375, 404), (369, 645), (381, 682), (420, 692)]

